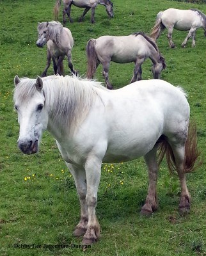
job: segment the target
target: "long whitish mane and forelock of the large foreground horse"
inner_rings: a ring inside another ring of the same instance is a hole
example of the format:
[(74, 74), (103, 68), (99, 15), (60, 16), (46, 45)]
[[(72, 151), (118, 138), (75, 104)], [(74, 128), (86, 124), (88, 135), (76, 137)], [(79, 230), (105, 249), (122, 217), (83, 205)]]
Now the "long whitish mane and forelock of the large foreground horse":
[[(99, 90), (107, 90), (102, 83), (71, 76), (49, 76), (42, 78), (45, 108), (59, 129), (68, 127), (73, 131), (79, 121), (84, 120), (93, 101), (100, 97)], [(15, 87), (14, 100), (29, 101), (36, 92), (36, 79), (23, 77)]]

